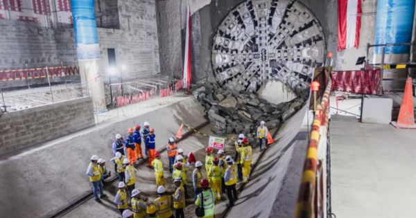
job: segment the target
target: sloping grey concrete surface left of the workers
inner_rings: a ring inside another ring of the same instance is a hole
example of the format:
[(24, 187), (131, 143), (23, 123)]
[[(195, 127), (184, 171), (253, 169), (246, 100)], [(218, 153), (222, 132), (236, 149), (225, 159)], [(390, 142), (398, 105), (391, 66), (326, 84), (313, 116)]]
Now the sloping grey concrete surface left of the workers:
[[(112, 167), (111, 145), (116, 133), (125, 136), (129, 127), (148, 121), (155, 128), (157, 149), (162, 149), (182, 122), (196, 127), (206, 121), (204, 115), (200, 104), (187, 98), (140, 116), (96, 125), (15, 156), (0, 156), (0, 217), (45, 217), (87, 192), (89, 158), (98, 154)], [(184, 133), (187, 131), (184, 128)]]

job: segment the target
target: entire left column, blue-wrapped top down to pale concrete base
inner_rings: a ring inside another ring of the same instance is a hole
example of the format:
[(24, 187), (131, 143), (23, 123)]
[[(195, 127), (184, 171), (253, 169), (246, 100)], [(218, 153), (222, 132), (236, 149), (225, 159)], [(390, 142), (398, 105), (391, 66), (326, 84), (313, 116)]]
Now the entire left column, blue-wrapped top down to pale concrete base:
[(80, 66), (83, 93), (91, 96), (94, 111), (107, 110), (105, 105), (104, 78), (99, 73), (100, 46), (98, 44), (94, 0), (72, 0), (73, 29), (76, 38), (78, 64)]

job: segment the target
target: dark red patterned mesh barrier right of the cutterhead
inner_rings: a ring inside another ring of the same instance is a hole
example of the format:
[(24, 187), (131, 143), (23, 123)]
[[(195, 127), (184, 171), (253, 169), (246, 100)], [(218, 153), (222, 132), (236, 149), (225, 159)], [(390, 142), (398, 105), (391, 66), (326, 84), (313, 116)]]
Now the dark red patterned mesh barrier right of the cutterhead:
[(332, 71), (332, 91), (377, 95), (379, 93), (380, 70)]

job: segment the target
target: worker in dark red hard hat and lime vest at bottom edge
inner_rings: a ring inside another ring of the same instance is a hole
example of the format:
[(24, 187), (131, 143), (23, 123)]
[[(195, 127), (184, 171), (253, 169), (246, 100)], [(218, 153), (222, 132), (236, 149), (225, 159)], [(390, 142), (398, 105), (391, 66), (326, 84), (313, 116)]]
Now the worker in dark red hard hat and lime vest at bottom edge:
[(195, 205), (200, 206), (201, 202), (203, 201), (204, 206), (204, 217), (207, 218), (214, 218), (215, 214), (215, 190), (211, 190), (209, 188), (209, 182), (207, 179), (201, 180), (201, 188), (202, 192), (198, 194), (198, 197), (196, 197)]

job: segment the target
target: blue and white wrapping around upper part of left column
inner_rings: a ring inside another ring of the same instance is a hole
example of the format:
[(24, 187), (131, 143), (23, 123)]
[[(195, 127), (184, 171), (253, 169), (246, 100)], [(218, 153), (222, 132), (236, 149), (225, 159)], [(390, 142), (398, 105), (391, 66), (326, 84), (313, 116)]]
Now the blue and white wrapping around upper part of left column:
[(71, 0), (78, 60), (100, 59), (94, 0)]

